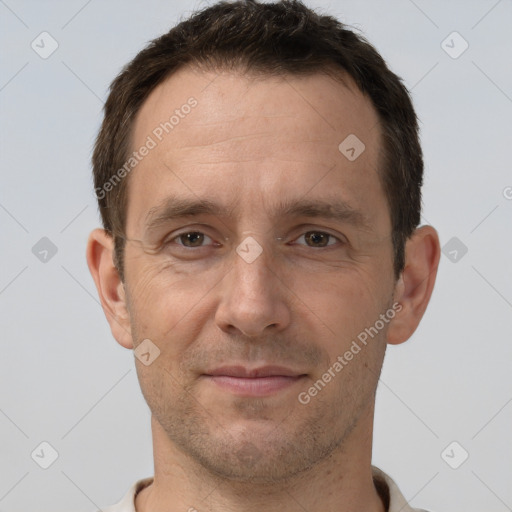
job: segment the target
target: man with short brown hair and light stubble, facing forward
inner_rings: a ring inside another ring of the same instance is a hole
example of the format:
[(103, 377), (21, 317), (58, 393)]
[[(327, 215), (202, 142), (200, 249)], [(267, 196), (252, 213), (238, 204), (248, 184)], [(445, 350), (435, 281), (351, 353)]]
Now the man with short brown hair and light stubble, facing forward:
[(109, 512), (413, 510), (371, 465), (387, 343), (429, 302), (406, 89), (298, 1), (220, 2), (111, 86), (89, 268), (151, 410)]

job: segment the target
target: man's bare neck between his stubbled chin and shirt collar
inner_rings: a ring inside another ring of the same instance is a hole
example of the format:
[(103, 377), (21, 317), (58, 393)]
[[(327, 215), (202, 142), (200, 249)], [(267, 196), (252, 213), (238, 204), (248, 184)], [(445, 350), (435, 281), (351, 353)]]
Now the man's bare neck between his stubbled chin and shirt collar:
[(137, 512), (385, 512), (373, 484), (373, 407), (343, 446), (286, 481), (255, 484), (221, 479), (178, 449), (152, 416), (155, 476), (136, 497)]

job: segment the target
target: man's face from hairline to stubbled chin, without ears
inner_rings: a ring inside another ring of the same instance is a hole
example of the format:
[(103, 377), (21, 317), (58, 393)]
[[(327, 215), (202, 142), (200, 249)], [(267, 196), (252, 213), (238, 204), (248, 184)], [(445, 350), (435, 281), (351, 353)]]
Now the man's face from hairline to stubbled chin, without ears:
[[(136, 119), (132, 148), (156, 147), (129, 177), (125, 290), (134, 346), (160, 350), (138, 376), (168, 440), (225, 477), (297, 474), (373, 413), (388, 323), (358, 335), (392, 308), (391, 223), (377, 114), (346, 81), (185, 68)], [(185, 200), (218, 211), (172, 217)]]

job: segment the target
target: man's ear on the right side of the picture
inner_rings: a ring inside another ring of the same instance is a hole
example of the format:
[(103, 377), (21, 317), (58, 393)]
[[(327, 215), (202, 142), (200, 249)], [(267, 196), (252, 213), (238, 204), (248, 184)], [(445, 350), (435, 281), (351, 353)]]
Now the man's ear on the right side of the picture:
[(402, 309), (389, 325), (387, 341), (398, 345), (407, 341), (420, 323), (434, 289), (441, 250), (437, 231), (422, 226), (405, 245), (405, 268), (395, 287), (394, 301)]

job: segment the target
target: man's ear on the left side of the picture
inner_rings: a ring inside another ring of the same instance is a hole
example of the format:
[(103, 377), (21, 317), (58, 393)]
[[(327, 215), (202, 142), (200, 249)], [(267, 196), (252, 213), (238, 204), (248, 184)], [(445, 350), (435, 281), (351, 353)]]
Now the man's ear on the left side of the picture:
[(95, 229), (89, 235), (87, 265), (112, 335), (121, 346), (133, 348), (124, 284), (114, 265), (114, 240), (103, 229)]

